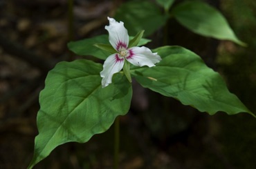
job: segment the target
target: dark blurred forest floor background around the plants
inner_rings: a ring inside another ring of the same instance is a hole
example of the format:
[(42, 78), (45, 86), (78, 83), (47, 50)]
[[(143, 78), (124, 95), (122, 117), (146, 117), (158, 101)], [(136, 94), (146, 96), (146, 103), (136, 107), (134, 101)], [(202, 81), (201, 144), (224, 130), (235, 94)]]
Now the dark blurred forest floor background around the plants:
[[(167, 44), (199, 54), (256, 112), (256, 1), (205, 2), (223, 13), (248, 47), (201, 37), (174, 20), (167, 23)], [(57, 61), (78, 58), (68, 52), (68, 41), (107, 34), (107, 16), (113, 17), (122, 3), (74, 0), (72, 12), (65, 0), (0, 0), (0, 168), (28, 166), (48, 70)], [(148, 37), (150, 48), (163, 45), (162, 32), (159, 28)], [(210, 116), (134, 82), (131, 110), (120, 125), (120, 168), (256, 168), (256, 120), (244, 113)], [(110, 128), (87, 143), (56, 148), (35, 168), (111, 168), (112, 161)]]

